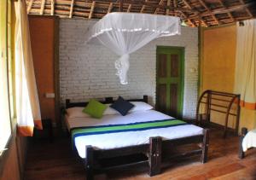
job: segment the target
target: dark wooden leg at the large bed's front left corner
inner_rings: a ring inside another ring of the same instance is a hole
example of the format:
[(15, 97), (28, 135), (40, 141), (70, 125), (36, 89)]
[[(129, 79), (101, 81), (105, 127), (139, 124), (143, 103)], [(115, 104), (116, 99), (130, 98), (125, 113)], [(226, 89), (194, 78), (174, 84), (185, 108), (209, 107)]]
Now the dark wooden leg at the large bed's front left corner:
[(93, 179), (93, 148), (92, 146), (86, 146), (86, 160), (85, 160), (85, 170), (86, 170), (86, 179)]

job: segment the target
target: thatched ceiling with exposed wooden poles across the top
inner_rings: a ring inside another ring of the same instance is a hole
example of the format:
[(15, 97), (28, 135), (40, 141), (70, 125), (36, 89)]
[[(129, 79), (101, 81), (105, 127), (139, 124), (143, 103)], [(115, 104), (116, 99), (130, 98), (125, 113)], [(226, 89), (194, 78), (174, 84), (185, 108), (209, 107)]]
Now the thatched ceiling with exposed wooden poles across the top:
[(176, 15), (189, 26), (216, 26), (256, 17), (255, 0), (26, 0), (30, 15), (100, 19), (110, 12)]

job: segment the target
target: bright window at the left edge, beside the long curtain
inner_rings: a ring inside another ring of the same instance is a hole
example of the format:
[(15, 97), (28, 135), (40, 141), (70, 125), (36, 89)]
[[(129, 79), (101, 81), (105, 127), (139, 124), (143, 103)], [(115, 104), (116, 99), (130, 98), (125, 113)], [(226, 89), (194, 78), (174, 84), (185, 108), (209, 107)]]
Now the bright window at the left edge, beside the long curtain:
[(8, 1), (0, 1), (0, 155), (11, 135), (8, 87)]

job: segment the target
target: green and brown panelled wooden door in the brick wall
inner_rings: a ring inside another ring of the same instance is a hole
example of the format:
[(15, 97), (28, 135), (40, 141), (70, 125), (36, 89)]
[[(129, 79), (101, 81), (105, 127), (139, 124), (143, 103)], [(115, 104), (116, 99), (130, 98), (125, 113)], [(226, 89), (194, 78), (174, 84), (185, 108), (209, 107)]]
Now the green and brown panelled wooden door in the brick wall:
[(184, 49), (159, 46), (156, 56), (156, 109), (172, 117), (181, 118)]

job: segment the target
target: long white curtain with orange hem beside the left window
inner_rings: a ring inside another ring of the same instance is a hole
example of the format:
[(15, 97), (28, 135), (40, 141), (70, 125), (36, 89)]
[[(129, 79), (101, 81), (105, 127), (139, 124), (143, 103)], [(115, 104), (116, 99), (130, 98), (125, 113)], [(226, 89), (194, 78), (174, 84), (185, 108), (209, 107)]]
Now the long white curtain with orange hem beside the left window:
[(15, 2), (15, 91), (18, 133), (32, 136), (34, 126), (42, 129), (38, 89), (25, 0)]

